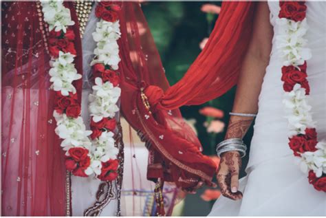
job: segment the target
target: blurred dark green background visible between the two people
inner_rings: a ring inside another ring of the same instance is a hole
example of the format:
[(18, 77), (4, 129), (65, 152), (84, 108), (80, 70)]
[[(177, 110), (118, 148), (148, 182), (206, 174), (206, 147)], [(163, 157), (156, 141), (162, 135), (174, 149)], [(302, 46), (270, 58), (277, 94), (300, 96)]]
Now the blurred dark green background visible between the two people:
[[(204, 4), (210, 3), (221, 6), (220, 1), (164, 1), (164, 2), (143, 2), (142, 10), (149, 23), (151, 33), (160, 52), (162, 63), (166, 70), (166, 77), (171, 85), (175, 84), (186, 72), (191, 63), (201, 52), (199, 43), (209, 36), (210, 31), (218, 18), (217, 14), (210, 14), (201, 11)], [(206, 155), (215, 155), (215, 144), (224, 139), (228, 124), (228, 112), (232, 109), (232, 102), (235, 96), (235, 87), (228, 91), (224, 96), (207, 102), (204, 105), (182, 107), (184, 118), (195, 119), (195, 128), (198, 132), (199, 140), (204, 147)], [(199, 114), (199, 109), (213, 106), (224, 111), (222, 122), (226, 124), (221, 133), (208, 133), (204, 122), (205, 116)], [(244, 138), (249, 146), (252, 137), (252, 129)], [(243, 169), (248, 162), (243, 160), (241, 177), (245, 175)], [(204, 216), (208, 215), (214, 201), (204, 201), (200, 195), (206, 188), (202, 188), (195, 195), (187, 195), (182, 215), (184, 216)]]

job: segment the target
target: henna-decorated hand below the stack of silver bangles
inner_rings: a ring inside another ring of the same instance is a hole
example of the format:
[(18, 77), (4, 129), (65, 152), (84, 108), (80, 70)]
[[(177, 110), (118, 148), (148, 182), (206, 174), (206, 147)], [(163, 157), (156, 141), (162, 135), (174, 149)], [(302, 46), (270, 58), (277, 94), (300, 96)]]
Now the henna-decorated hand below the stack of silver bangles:
[(221, 188), (221, 194), (232, 200), (242, 198), (239, 188), (239, 170), (241, 168), (241, 155), (237, 151), (228, 151), (221, 155), (217, 182)]

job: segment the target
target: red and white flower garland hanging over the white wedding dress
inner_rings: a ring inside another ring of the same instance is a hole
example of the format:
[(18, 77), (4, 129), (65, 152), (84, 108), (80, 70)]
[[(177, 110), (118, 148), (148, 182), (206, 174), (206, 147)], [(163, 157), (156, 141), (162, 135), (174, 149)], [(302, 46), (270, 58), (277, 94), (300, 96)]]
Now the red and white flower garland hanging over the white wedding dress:
[(288, 122), (289, 145), (294, 155), (301, 157), (301, 169), (308, 174), (316, 190), (326, 192), (326, 142), (317, 142), (312, 107), (307, 102), (309, 83), (307, 60), (312, 56), (304, 35), (307, 6), (300, 1), (280, 1), (279, 33), (276, 46), (281, 51), (283, 67), (281, 80), (285, 91), (283, 105)]

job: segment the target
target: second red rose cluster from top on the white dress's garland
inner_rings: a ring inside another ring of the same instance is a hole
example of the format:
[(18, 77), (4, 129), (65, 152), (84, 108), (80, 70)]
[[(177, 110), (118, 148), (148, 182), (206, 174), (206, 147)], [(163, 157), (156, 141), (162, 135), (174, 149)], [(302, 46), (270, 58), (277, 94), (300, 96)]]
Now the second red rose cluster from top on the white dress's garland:
[(307, 62), (303, 65), (296, 67), (283, 66), (282, 67), (282, 78), (284, 91), (290, 92), (293, 90), (294, 85), (296, 83), (300, 84), (302, 88), (305, 89), (305, 94), (309, 95), (310, 87), (307, 80)]

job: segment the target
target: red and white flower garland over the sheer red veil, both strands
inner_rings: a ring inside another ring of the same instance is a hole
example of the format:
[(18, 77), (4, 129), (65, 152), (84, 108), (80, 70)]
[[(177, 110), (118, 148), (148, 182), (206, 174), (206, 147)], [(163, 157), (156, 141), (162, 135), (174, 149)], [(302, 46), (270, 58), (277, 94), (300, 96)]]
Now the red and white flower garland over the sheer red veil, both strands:
[(93, 65), (95, 84), (89, 95), (91, 131), (87, 131), (80, 116), (80, 102), (73, 85), (82, 78), (74, 66), (76, 50), (75, 35), (70, 26), (74, 25), (70, 10), (63, 1), (42, 1), (44, 21), (49, 25), (49, 52), (52, 60), (49, 74), (51, 88), (55, 91), (54, 118), (56, 134), (63, 141), (65, 166), (73, 175), (88, 177), (95, 174), (103, 181), (113, 181), (118, 176), (118, 149), (115, 147), (116, 103), (121, 90), (119, 77), (113, 70), (118, 69), (120, 25), (117, 11), (120, 6), (111, 2), (98, 3), (96, 17), (100, 18), (93, 33), (97, 42)]

